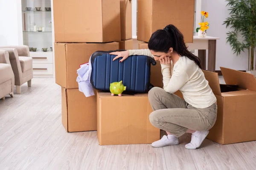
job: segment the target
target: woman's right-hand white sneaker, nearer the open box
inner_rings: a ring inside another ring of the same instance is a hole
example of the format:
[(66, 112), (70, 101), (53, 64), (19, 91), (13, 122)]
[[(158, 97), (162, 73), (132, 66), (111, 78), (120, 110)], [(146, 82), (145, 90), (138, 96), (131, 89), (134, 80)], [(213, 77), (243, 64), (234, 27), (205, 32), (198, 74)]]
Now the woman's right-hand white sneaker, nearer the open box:
[(197, 149), (200, 147), (208, 133), (209, 130), (201, 131), (201, 133), (200, 131), (195, 131), (195, 133), (192, 133), (191, 142), (186, 144), (185, 147), (187, 149)]

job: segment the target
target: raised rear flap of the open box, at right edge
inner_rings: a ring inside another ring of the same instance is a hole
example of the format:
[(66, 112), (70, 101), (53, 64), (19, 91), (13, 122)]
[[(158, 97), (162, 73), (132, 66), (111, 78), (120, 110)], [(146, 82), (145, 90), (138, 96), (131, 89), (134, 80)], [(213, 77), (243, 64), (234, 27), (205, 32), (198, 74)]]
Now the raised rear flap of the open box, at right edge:
[(221, 67), (226, 84), (238, 85), (239, 88), (256, 91), (256, 78), (253, 74)]

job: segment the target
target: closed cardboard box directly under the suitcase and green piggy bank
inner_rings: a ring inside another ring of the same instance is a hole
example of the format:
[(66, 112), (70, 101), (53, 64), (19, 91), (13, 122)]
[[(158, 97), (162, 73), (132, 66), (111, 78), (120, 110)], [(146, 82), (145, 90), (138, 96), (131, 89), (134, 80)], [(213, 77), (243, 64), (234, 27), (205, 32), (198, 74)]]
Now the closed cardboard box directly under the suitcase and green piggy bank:
[(151, 125), (148, 94), (111, 96), (97, 93), (97, 135), (100, 145), (147, 144), (160, 139)]

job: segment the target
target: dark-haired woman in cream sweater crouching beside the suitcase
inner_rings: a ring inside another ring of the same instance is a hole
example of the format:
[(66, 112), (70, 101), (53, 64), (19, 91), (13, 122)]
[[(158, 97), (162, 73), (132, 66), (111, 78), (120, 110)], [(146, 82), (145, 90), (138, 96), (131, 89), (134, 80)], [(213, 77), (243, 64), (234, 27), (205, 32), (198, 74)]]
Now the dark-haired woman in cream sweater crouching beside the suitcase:
[[(192, 133), (187, 149), (196, 149), (215, 124), (217, 116), (216, 97), (201, 70), (200, 59), (186, 48), (183, 35), (173, 25), (155, 31), (149, 42), (149, 49), (113, 52), (113, 60), (130, 55), (147, 55), (160, 60), (163, 74), (163, 88), (154, 87), (148, 92), (153, 108), (149, 119), (153, 126), (168, 134), (153, 142), (153, 147), (179, 144), (179, 137)], [(172, 68), (172, 64), (173, 68)], [(172, 68), (172, 75), (170, 68)], [(176, 96), (180, 90), (183, 99)]]

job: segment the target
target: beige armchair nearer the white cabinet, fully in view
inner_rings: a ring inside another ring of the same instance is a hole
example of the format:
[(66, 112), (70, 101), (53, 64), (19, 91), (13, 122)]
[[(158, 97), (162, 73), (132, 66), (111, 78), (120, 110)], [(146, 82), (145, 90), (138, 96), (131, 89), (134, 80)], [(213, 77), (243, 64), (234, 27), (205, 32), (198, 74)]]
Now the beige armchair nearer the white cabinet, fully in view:
[(2, 50), (9, 52), (9, 58), (12, 70), (15, 75), (15, 85), (17, 94), (20, 94), (21, 88), (25, 82), (31, 87), (33, 78), (32, 57), (29, 55), (29, 47), (26, 45), (2, 46)]

